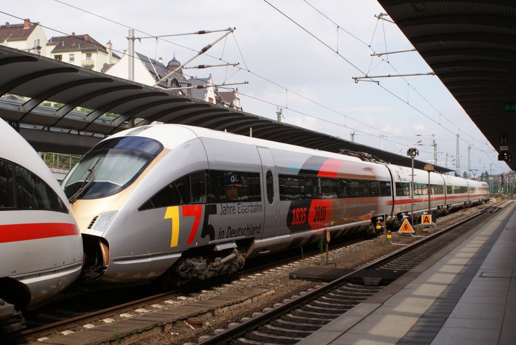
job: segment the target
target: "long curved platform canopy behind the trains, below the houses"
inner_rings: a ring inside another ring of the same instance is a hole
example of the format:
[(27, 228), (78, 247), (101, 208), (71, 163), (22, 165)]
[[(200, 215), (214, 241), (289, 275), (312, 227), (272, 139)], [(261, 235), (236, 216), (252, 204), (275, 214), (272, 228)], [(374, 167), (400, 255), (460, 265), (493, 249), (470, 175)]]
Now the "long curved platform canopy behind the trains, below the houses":
[[(6, 98), (6, 94), (15, 95)], [(18, 97), (21, 96), (21, 97)], [(85, 153), (105, 136), (153, 121), (194, 125), (340, 152), (365, 152), (400, 166), (404, 155), (350, 142), (0, 45), (0, 117), (21, 126), (38, 151)], [(26, 98), (22, 98), (26, 97)], [(44, 105), (55, 102), (58, 106)], [(82, 107), (88, 112), (77, 112)], [(414, 160), (423, 169), (425, 162)], [(451, 171), (436, 167), (442, 172)]]

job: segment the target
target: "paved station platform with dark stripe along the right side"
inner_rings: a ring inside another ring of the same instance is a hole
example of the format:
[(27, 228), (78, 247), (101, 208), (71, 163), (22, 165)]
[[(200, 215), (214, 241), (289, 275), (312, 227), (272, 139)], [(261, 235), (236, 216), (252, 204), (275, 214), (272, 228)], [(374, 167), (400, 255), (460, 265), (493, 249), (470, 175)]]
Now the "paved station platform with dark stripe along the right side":
[(298, 345), (515, 344), (516, 202)]

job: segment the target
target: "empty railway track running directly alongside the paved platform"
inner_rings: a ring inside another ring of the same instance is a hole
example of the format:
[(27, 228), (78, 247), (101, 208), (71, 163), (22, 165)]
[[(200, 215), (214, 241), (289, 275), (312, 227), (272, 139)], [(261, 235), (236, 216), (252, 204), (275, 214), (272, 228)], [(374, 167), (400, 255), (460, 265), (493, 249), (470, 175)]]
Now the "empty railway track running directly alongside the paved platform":
[[(392, 276), (392, 273), (401, 275), (469, 232), (477, 225), (477, 222), (471, 223), (473, 219), (489, 217), (498, 209), (499, 207), (487, 208), (473, 217), (370, 262), (333, 282), (303, 295), (293, 296), (292, 300), (285, 300), (284, 303), (275, 305), (273, 308), (265, 309), (264, 313), (257, 313), (249, 320), (232, 324), (232, 327), (223, 332), (214, 336), (202, 336), (198, 345), (295, 344), (383, 287), (357, 284), (360, 278)], [(377, 283), (379, 282), (380, 280), (377, 280)]]

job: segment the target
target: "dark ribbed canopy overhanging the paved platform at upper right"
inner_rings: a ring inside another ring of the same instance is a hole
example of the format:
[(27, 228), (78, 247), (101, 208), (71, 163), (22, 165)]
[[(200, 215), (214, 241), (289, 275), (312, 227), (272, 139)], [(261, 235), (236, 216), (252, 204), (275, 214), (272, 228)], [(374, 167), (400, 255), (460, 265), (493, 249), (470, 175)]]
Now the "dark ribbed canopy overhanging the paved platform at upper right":
[(516, 154), (516, 2), (378, 2), (498, 153)]

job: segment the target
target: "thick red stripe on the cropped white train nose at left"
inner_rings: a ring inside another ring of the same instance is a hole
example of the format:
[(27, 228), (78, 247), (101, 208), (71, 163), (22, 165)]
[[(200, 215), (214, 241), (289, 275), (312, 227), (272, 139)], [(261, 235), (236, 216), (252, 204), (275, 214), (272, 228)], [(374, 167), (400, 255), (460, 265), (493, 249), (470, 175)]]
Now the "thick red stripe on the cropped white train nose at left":
[(75, 224), (33, 223), (0, 225), (0, 243), (78, 235)]

